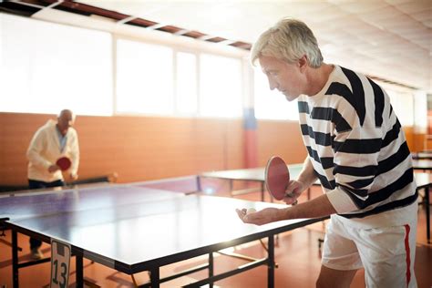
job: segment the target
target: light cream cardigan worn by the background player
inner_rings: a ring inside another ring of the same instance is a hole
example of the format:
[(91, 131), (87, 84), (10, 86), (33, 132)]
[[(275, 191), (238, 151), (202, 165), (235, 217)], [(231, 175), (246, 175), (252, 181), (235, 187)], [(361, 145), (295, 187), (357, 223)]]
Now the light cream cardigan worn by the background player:
[(60, 157), (66, 156), (72, 162), (67, 171), (71, 175), (77, 175), (79, 165), (79, 146), (77, 131), (73, 128), (67, 129), (67, 143), (63, 151), (60, 148), (57, 122), (50, 119), (44, 126), (38, 129), (27, 149), (27, 178), (29, 180), (39, 180), (52, 182), (63, 180), (60, 170), (54, 173), (48, 172), (48, 168), (54, 165)]

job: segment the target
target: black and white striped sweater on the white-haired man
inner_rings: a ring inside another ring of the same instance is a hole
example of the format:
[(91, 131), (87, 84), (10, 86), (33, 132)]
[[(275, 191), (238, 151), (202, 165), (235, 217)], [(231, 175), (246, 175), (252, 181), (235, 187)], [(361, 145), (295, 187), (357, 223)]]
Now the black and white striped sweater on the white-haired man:
[(298, 98), (303, 141), (340, 216), (364, 218), (417, 200), (404, 131), (386, 92), (334, 66), (324, 88)]

